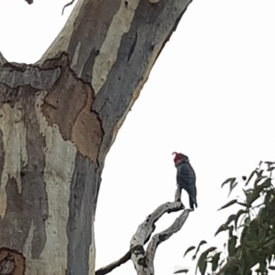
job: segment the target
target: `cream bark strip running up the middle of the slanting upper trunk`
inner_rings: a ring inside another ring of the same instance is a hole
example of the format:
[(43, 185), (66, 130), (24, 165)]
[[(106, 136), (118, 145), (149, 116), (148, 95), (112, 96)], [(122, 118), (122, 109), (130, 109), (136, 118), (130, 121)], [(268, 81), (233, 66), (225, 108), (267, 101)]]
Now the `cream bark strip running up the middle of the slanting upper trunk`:
[(139, 3), (140, 0), (132, 0), (128, 5), (125, 5), (124, 0), (120, 2), (120, 9), (113, 17), (106, 39), (100, 48), (100, 54), (96, 56), (92, 69), (93, 79), (91, 85), (94, 87), (96, 94), (106, 82), (107, 76), (118, 58), (122, 36), (129, 32), (135, 9)]

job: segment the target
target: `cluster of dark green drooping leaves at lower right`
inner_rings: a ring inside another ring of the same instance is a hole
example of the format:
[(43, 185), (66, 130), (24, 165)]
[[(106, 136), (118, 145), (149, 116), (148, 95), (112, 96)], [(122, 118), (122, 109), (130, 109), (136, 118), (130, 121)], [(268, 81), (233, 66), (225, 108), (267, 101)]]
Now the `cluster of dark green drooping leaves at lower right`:
[[(268, 270), (275, 270), (275, 265), (272, 265), (275, 255), (274, 168), (275, 162), (260, 162), (248, 179), (234, 177), (223, 182), (221, 187), (229, 186), (229, 194), (238, 184), (243, 184), (244, 196), (243, 199), (232, 199), (219, 209), (240, 206), (215, 234), (228, 232), (226, 250), (210, 247), (203, 251), (197, 261), (197, 271), (200, 274), (250, 275), (255, 266), (255, 272), (261, 275), (268, 274)], [(206, 241), (198, 245), (193, 260), (204, 243)], [(195, 246), (188, 248), (184, 256), (192, 250), (195, 250)]]

